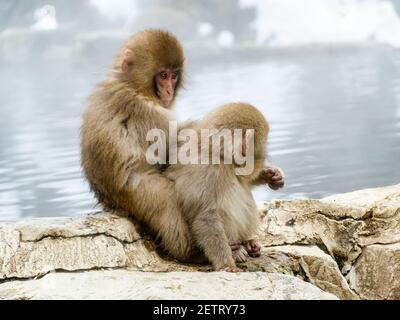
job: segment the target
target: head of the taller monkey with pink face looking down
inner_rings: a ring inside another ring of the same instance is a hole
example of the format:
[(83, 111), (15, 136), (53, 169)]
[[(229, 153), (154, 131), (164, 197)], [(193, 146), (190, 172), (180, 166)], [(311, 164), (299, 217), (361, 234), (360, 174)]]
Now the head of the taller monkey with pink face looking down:
[(169, 108), (183, 82), (184, 61), (182, 46), (172, 34), (146, 30), (125, 43), (114, 73), (139, 94)]

